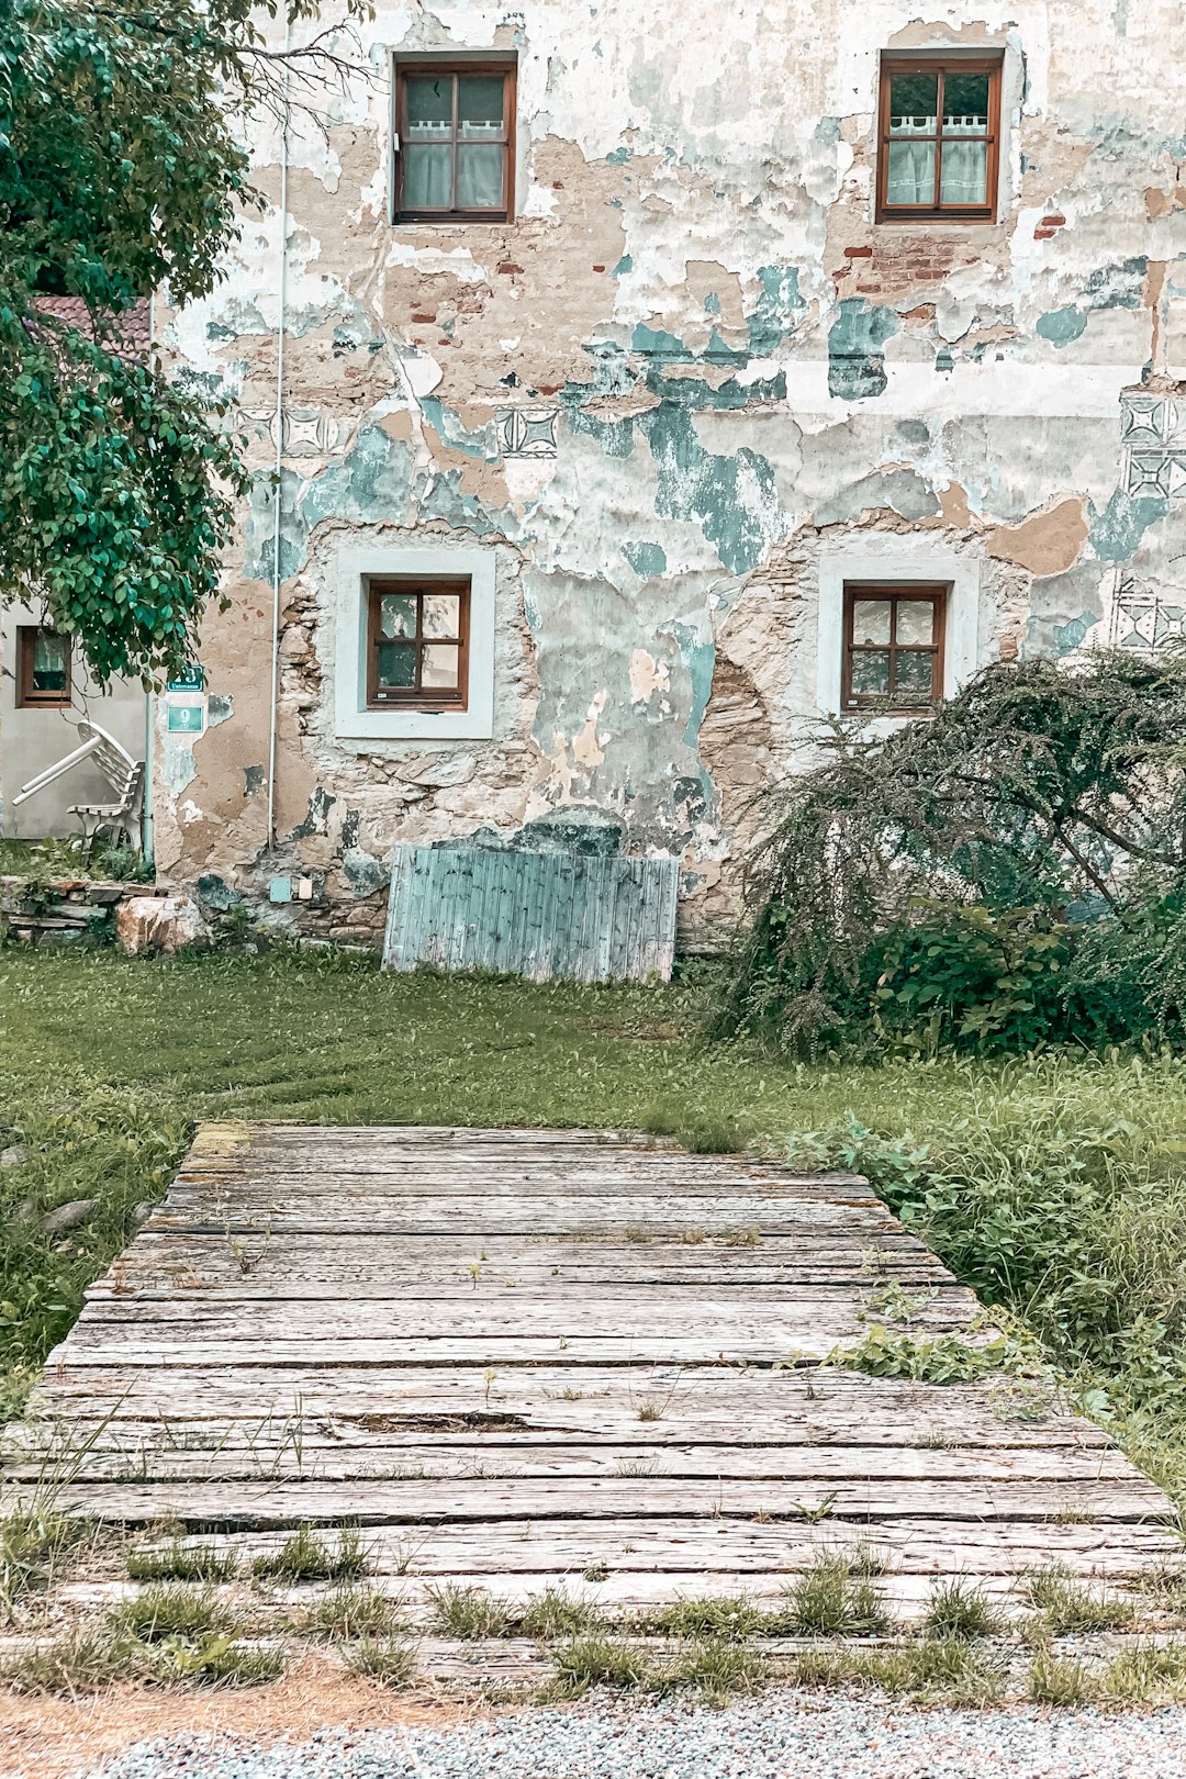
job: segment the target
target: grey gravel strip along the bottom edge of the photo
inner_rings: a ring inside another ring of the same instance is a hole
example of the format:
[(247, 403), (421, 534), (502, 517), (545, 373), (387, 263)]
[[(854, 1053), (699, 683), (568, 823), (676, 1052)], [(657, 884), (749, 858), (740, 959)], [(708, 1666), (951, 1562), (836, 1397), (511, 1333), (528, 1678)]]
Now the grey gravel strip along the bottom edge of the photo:
[[(919, 1711), (766, 1692), (725, 1710), (590, 1703), (258, 1751), (144, 1742), (103, 1779), (1182, 1779), (1186, 1710)], [(98, 1775), (96, 1775), (98, 1779)]]

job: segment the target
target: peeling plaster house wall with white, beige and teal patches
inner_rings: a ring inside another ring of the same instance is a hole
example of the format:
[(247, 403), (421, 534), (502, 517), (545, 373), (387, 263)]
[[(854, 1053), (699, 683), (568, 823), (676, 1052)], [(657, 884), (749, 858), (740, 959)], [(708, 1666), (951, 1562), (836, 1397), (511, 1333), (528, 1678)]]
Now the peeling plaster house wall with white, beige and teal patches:
[[(999, 221), (877, 226), (880, 52), (942, 46), (1005, 57)], [(393, 228), (391, 52), (485, 48), (517, 53), (516, 221)], [(749, 797), (811, 758), (846, 550), (958, 573), (969, 667), (1186, 621), (1177, 0), (381, 5), (365, 52), (325, 135), (295, 119), (284, 217), (261, 125), (265, 212), (169, 318), (258, 479), (210, 728), (158, 737), (162, 875), (311, 875), (274, 918), (370, 938), (395, 841), (622, 845), (683, 859), (699, 943)], [(334, 733), (338, 553), (400, 541), (496, 553), (491, 737)]]

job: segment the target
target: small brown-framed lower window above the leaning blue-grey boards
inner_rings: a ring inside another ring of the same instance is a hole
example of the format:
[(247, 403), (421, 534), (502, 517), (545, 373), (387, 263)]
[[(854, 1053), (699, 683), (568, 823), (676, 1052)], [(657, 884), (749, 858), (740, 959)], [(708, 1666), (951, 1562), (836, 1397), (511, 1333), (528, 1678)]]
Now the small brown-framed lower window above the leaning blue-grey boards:
[(372, 580), (366, 708), (466, 710), (469, 582)]

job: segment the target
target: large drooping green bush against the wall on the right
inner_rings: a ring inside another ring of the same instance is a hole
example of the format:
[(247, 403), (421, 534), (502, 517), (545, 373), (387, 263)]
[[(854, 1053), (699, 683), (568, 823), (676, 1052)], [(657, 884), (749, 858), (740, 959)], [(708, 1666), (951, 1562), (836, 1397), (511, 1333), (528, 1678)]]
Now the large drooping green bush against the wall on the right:
[[(1186, 651), (976, 674), (759, 799), (720, 1032), (1030, 1048), (1181, 1032)], [(1060, 978), (1072, 964), (1067, 989)]]

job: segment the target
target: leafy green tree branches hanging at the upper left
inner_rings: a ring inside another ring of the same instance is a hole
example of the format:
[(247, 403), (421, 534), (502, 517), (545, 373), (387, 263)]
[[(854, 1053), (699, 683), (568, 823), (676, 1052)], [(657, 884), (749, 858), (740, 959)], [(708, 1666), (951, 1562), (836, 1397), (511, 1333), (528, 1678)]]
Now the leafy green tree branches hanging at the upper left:
[(288, 103), (284, 71), (315, 93), (349, 66), (325, 30), (268, 44), (265, 14), (276, 0), (0, 9), (0, 603), (39, 605), (100, 683), (192, 658), (247, 486), (220, 404), (132, 350), (128, 317), (160, 286), (213, 288), (258, 201), (244, 119)]

